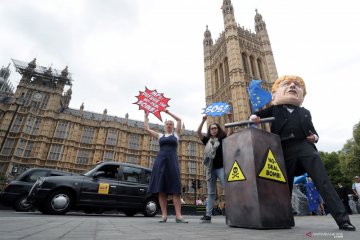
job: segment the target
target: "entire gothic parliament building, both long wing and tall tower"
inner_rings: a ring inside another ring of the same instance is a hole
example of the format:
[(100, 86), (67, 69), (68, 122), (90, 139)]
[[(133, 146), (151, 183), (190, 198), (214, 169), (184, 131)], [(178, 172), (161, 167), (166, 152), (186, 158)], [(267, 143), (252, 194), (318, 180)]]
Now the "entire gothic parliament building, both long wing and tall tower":
[[(206, 26), (203, 38), (205, 104), (226, 102), (234, 121), (251, 113), (247, 87), (251, 79), (264, 80), (270, 88), (277, 70), (266, 24), (256, 11), (255, 32), (235, 21), (231, 0), (221, 8), (224, 30), (213, 41)], [(9, 66), (0, 70), (0, 178), (21, 174), (28, 168), (56, 168), (82, 173), (97, 162), (116, 161), (151, 168), (159, 150), (157, 139), (144, 131), (142, 121), (89, 112), (81, 105), (70, 108), (73, 84), (68, 67), (46, 68), (31, 61), (12, 60), (21, 75), (13, 90)], [(76, 83), (76, 81), (74, 81)], [(208, 123), (226, 123), (224, 117)], [(199, 122), (200, 123), (200, 122)], [(163, 126), (151, 124), (155, 131)], [(198, 193), (206, 194), (204, 146), (196, 130), (183, 127), (178, 147), (183, 192), (192, 196), (193, 179), (201, 182)], [(191, 197), (190, 197), (191, 198)]]

